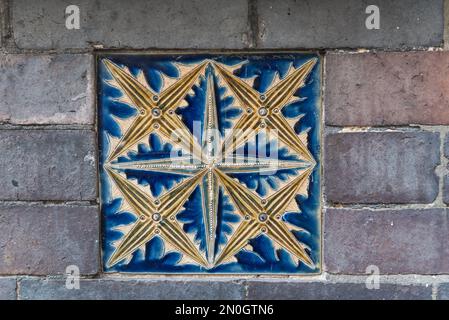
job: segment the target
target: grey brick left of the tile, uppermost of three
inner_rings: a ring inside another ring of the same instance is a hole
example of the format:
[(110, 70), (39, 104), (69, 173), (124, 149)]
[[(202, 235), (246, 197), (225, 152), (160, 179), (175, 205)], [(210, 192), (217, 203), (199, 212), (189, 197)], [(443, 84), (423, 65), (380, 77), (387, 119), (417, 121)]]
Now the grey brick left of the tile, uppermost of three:
[(89, 55), (0, 55), (0, 122), (92, 124)]

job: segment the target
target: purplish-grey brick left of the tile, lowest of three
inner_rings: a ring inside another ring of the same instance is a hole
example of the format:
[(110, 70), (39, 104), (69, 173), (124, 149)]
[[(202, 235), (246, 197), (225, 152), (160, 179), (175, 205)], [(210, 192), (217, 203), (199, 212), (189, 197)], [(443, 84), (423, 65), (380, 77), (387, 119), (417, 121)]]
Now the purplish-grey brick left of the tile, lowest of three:
[(99, 269), (96, 206), (0, 205), (0, 274), (82, 274)]

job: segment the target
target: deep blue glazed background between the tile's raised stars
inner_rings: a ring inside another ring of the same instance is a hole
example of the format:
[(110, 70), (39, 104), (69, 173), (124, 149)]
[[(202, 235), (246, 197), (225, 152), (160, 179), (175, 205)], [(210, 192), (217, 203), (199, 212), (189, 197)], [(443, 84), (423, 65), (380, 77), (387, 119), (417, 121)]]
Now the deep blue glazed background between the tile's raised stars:
[[(318, 60), (313, 71), (307, 79), (306, 86), (297, 92), (297, 96), (304, 98), (299, 102), (292, 103), (284, 107), (282, 113), (287, 118), (304, 114), (301, 120), (295, 125), (295, 130), (299, 133), (302, 130), (309, 130), (309, 149), (317, 161), (311, 175), (309, 185), (309, 196), (304, 198), (297, 195), (296, 201), (301, 209), (301, 214), (287, 213), (284, 220), (297, 225), (309, 233), (293, 231), (296, 238), (310, 247), (312, 260), (317, 268), (310, 269), (307, 265), (300, 263), (298, 266), (292, 260), (290, 254), (284, 249), (275, 250), (272, 241), (261, 235), (252, 239), (250, 244), (253, 251), (241, 250), (237, 255), (237, 262), (220, 265), (214, 269), (204, 269), (196, 265), (177, 265), (181, 254), (177, 252), (164, 252), (164, 243), (159, 237), (153, 238), (146, 244), (145, 254), (142, 250), (137, 250), (128, 264), (123, 261), (112, 268), (106, 267), (106, 262), (111, 256), (114, 247), (112, 241), (119, 240), (123, 234), (115, 231), (119, 225), (134, 223), (136, 217), (131, 212), (120, 212), (121, 198), (112, 198), (110, 193), (110, 180), (103, 168), (103, 163), (109, 150), (108, 135), (120, 137), (122, 132), (115, 122), (114, 117), (129, 118), (136, 114), (136, 110), (126, 104), (114, 101), (120, 97), (119, 90), (111, 87), (105, 80), (111, 79), (108, 71), (101, 63), (101, 59), (107, 58), (120, 66), (126, 66), (131, 73), (137, 75), (138, 70), (143, 70), (144, 75), (155, 92), (160, 92), (162, 88), (162, 77), (164, 74), (169, 77), (178, 77), (177, 68), (172, 62), (197, 63), (204, 59), (214, 59), (226, 65), (236, 65), (242, 61), (247, 61), (240, 68), (234, 71), (236, 76), (242, 78), (255, 77), (254, 88), (261, 93), (265, 92), (272, 83), (276, 73), (281, 79), (288, 72), (290, 64), (295, 68), (305, 61), (318, 57), (315, 54), (258, 54), (257, 56), (246, 55), (109, 55), (101, 56), (98, 61), (98, 117), (99, 117), (99, 173), (100, 173), (100, 200), (102, 212), (102, 249), (103, 265), (107, 272), (149, 272), (149, 273), (317, 273), (321, 264), (321, 236), (320, 236), (320, 77), (321, 61)], [(208, 68), (206, 73), (212, 70)], [(216, 80), (215, 76), (214, 79)], [(178, 109), (176, 112), (182, 115), (187, 127), (192, 130), (193, 121), (203, 120), (204, 93), (206, 81), (200, 80), (199, 86), (193, 88), (194, 96), (187, 97), (188, 106)], [(217, 108), (219, 109), (220, 130), (230, 127), (231, 120), (236, 119), (240, 110), (233, 106), (233, 98), (227, 95), (225, 90), (215, 81), (215, 92), (217, 95)], [(232, 96), (232, 95), (231, 95)], [(140, 144), (138, 152), (129, 152), (119, 158), (119, 162), (155, 159), (168, 157), (171, 152), (171, 145), (162, 143), (159, 137), (152, 134), (148, 137), (148, 145)], [(179, 151), (181, 153), (181, 151)], [(294, 156), (287, 153), (286, 149), (278, 151), (280, 159), (292, 159)], [(165, 173), (147, 173), (138, 170), (125, 171), (129, 179), (137, 181), (139, 184), (147, 186), (148, 191), (155, 196), (160, 195), (164, 189), (170, 189), (183, 178), (179, 175), (168, 175)], [(240, 182), (264, 196), (267, 188), (277, 188), (279, 180), (285, 180), (292, 174), (292, 170), (283, 170), (274, 176), (259, 176), (254, 174), (234, 174)], [(234, 213), (233, 205), (228, 197), (220, 191), (220, 206), (218, 218), (221, 223), (217, 227), (217, 246), (224, 244), (231, 235), (232, 229), (229, 223), (239, 221), (239, 216)], [(204, 225), (201, 212), (201, 193), (197, 188), (185, 204), (185, 210), (177, 215), (177, 219), (184, 223), (184, 231), (195, 235), (195, 239), (200, 244), (200, 249), (205, 248)]]

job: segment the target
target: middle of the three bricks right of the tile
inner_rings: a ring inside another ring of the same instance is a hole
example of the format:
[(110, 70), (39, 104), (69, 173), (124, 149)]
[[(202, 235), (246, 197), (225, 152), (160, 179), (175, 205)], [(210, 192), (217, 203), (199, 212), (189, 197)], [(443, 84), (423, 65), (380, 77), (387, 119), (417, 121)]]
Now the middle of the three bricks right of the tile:
[(334, 203), (431, 203), (438, 164), (438, 133), (327, 134), (326, 197)]

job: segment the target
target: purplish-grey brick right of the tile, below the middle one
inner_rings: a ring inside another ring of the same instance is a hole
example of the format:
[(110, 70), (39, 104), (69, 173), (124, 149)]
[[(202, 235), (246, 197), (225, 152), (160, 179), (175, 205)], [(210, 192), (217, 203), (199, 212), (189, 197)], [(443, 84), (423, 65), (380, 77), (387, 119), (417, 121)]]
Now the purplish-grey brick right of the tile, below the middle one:
[(382, 274), (449, 272), (449, 224), (446, 209), (327, 209), (324, 261), (330, 273)]

